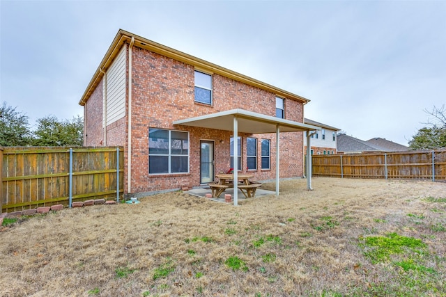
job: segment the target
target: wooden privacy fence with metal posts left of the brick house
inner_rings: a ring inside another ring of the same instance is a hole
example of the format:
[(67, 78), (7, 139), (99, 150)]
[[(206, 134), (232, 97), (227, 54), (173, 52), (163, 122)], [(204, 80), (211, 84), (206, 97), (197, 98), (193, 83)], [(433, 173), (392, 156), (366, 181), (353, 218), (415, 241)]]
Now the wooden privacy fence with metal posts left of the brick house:
[(1, 212), (93, 198), (119, 200), (123, 147), (0, 148)]

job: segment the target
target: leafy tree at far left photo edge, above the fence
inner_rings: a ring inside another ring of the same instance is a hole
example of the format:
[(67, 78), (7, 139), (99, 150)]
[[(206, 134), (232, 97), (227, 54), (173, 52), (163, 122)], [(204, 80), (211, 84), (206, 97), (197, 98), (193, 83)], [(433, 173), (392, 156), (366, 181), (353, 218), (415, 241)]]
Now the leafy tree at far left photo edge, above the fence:
[(6, 102), (0, 107), (0, 146), (30, 145), (29, 118), (15, 109)]

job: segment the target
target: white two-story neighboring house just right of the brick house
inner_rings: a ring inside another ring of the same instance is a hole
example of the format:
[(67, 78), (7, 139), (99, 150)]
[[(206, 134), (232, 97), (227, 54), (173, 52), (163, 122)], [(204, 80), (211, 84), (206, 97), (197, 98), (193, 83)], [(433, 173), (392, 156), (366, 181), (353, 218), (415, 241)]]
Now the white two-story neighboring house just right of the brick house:
[[(337, 153), (337, 131), (340, 129), (325, 125), (321, 122), (316, 122), (304, 118), (305, 124), (321, 127), (321, 130), (316, 131), (311, 136), (311, 152), (312, 154), (336, 154)], [(304, 154), (307, 154), (307, 138), (304, 132)]]

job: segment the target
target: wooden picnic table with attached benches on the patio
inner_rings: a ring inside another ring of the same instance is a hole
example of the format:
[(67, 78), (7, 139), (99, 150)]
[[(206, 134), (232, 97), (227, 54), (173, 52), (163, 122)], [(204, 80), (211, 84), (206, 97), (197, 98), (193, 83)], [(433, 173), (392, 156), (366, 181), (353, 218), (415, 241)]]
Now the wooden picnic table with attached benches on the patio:
[[(220, 197), (226, 188), (233, 188), (234, 175), (230, 173), (224, 173), (215, 175), (217, 177), (218, 183), (209, 183), (210, 191), (213, 197)], [(254, 175), (240, 173), (238, 174), (238, 184), (237, 188), (245, 195), (246, 198), (251, 198), (256, 195), (256, 189), (261, 186), (261, 184), (256, 182), (249, 182), (249, 179), (254, 177)]]

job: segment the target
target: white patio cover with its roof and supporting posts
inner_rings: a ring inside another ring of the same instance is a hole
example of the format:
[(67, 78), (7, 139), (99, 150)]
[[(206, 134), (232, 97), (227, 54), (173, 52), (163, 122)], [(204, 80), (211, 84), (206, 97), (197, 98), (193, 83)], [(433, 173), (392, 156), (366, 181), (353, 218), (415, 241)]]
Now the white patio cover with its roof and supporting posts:
[[(285, 120), (276, 118), (270, 115), (263, 115), (261, 113), (254, 113), (252, 111), (245, 111), (244, 109), (231, 109), (229, 111), (220, 111), (218, 113), (211, 113), (208, 115), (201, 115), (194, 118), (186, 118), (183, 120), (176, 120), (174, 125), (183, 125), (190, 127), (201, 127), (207, 129), (217, 129), (232, 131), (235, 140), (238, 139), (238, 133), (245, 134), (276, 134), (276, 164), (279, 164), (279, 135), (284, 132), (298, 132), (307, 131), (307, 156), (310, 156), (310, 138), (312, 133), (320, 130), (321, 127), (314, 125), (307, 125), (301, 122), (292, 120)], [(233, 151), (237, 152), (238, 141), (233, 142)], [(312, 190), (312, 172), (311, 160), (307, 158), (307, 189)], [(238, 163), (233, 164), (233, 177), (238, 180)], [(275, 170), (276, 180), (276, 195), (279, 195), (279, 166), (276, 165)], [(234, 183), (233, 186), (233, 203), (238, 205), (238, 185)]]

